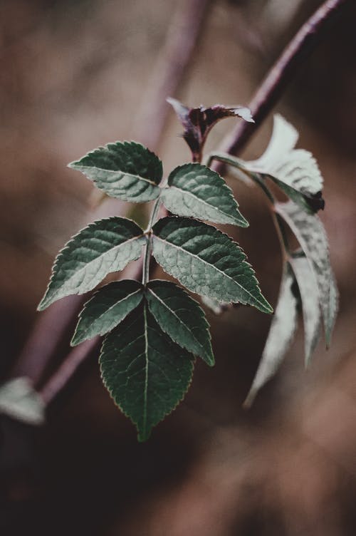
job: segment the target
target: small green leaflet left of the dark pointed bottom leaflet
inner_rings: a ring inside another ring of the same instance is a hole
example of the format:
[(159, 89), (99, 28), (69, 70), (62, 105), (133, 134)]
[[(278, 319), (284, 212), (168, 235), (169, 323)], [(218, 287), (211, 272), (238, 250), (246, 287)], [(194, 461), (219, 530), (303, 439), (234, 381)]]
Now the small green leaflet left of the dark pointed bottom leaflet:
[(70, 344), (75, 346), (108, 333), (140, 304), (143, 296), (142, 284), (132, 279), (105, 285), (84, 305)]

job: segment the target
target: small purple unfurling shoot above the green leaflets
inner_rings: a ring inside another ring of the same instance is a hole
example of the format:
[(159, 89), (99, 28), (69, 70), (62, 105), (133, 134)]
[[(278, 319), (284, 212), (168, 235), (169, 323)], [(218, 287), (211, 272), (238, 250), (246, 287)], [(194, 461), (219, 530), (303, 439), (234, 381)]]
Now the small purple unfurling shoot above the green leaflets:
[(239, 117), (253, 123), (251, 110), (244, 106), (216, 104), (211, 108), (187, 108), (175, 98), (167, 98), (184, 127), (183, 138), (192, 151), (193, 160), (199, 160), (206, 136), (217, 121), (226, 117)]

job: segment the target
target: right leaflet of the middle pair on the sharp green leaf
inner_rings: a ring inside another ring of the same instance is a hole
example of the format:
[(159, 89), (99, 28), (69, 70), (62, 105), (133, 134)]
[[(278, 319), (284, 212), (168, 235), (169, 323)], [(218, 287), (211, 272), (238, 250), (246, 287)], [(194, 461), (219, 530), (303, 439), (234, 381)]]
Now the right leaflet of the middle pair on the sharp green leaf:
[(266, 313), (273, 311), (246, 255), (227, 234), (183, 217), (164, 217), (153, 232), (155, 259), (187, 289), (219, 301), (239, 301)]

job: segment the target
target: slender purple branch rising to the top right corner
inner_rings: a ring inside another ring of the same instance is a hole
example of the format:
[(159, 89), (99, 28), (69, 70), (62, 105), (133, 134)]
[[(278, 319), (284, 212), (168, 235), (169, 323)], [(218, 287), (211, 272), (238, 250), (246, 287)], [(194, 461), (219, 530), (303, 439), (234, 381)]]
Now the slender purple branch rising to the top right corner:
[[(266, 78), (248, 105), (255, 123), (239, 122), (236, 128), (223, 140), (219, 150), (231, 155), (236, 155), (241, 151), (251, 138), (251, 134), (261, 125), (281, 97), (302, 61), (312, 53), (334, 16), (347, 3), (351, 4), (351, 0), (327, 0), (303, 24), (268, 71)], [(223, 167), (223, 163), (217, 163), (214, 169), (221, 171)]]

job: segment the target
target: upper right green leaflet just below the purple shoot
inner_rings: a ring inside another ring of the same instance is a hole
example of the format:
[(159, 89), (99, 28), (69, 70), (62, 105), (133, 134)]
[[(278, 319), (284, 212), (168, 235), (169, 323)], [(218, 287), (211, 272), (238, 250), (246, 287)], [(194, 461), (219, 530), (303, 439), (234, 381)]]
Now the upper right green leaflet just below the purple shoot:
[(229, 186), (205, 165), (175, 168), (168, 177), (168, 187), (162, 190), (162, 200), (168, 210), (179, 216), (248, 227)]

